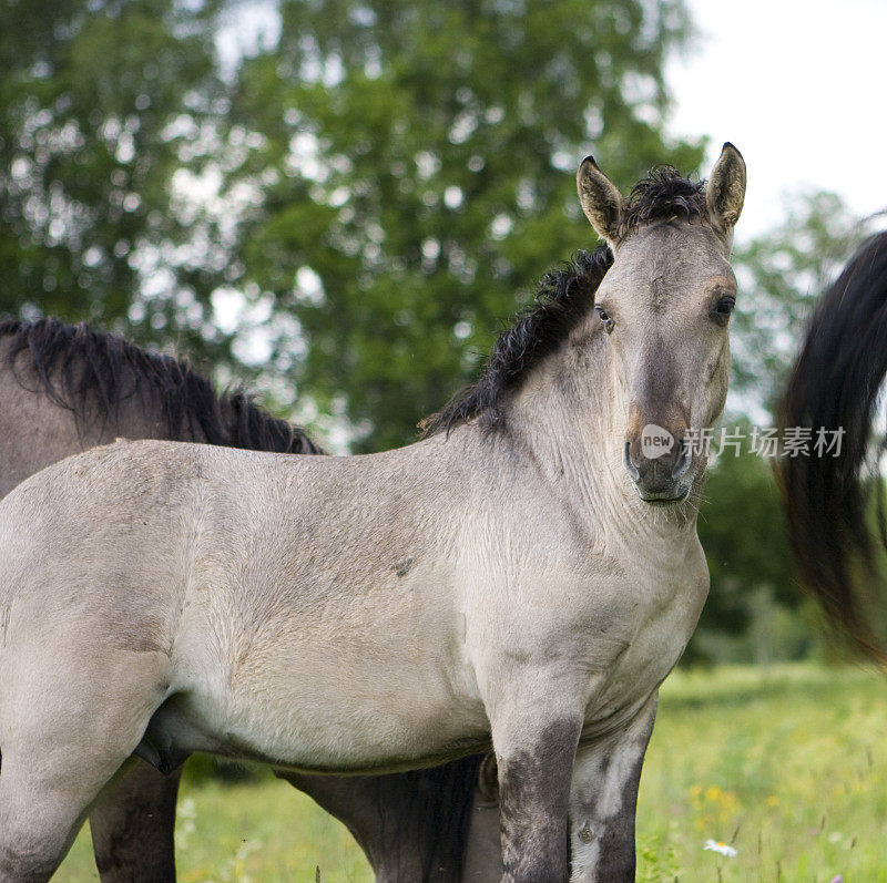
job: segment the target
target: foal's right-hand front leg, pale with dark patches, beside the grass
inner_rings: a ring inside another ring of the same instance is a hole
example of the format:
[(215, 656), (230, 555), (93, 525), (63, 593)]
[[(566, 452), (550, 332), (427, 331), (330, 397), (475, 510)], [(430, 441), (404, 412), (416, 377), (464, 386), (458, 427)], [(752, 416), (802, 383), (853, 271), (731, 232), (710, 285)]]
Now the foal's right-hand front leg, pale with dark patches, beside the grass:
[(580, 746), (570, 794), (572, 883), (634, 880), (634, 814), (657, 694), (613, 736)]

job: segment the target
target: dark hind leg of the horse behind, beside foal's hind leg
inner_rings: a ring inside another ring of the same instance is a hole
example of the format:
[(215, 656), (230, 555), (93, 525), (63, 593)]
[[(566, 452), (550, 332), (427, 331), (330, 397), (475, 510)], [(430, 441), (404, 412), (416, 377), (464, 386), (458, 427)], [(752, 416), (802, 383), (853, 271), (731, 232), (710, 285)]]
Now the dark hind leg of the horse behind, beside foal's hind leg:
[(174, 883), (175, 801), (182, 767), (164, 776), (136, 760), (90, 813), (102, 883)]

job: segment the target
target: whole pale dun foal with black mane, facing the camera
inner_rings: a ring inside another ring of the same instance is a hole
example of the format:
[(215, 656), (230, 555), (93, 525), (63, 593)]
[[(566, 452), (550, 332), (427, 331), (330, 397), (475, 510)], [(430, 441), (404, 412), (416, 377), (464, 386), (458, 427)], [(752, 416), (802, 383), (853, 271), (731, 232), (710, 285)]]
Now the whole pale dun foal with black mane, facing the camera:
[(564, 880), (568, 852), (632, 879), (657, 687), (707, 591), (686, 439), (726, 396), (745, 166), (578, 183), (612, 266), (560, 277), (424, 441), (120, 443), (0, 503), (0, 879), (51, 875), (133, 756), (358, 773), (490, 745), (506, 880)]

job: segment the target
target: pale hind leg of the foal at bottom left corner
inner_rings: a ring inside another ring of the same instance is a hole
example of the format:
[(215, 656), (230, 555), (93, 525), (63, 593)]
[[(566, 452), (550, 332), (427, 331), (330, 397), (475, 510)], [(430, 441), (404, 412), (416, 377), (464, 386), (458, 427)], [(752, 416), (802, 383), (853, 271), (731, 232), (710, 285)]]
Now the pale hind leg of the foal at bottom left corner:
[(49, 880), (162, 698), (164, 654), (59, 644), (4, 660), (0, 883)]

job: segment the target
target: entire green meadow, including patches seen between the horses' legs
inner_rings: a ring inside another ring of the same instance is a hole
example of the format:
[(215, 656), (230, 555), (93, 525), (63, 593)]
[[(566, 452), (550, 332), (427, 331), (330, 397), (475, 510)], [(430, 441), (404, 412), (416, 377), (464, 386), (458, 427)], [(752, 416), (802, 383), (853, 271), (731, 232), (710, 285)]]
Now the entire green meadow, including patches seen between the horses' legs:
[[(813, 665), (679, 671), (639, 807), (639, 880), (887, 883), (887, 680)], [(736, 858), (703, 851), (726, 841)], [(368, 881), (345, 829), (273, 780), (183, 784), (179, 879)], [(89, 834), (58, 874), (96, 879)]]

